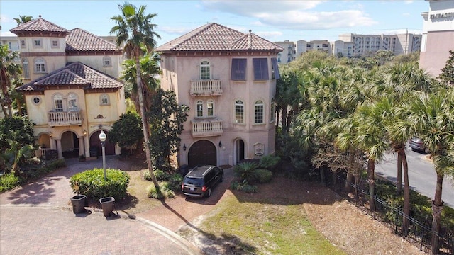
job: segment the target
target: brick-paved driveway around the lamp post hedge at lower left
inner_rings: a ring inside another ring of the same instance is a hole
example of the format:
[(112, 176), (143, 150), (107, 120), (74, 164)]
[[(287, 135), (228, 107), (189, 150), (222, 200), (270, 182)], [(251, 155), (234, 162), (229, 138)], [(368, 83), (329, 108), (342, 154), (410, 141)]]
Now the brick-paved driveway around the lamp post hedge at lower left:
[[(70, 177), (102, 167), (101, 159), (78, 162), (13, 191), (0, 194), (0, 254), (200, 254), (174, 232), (143, 217), (104, 217), (72, 212)], [(131, 169), (108, 157), (106, 165)], [(145, 214), (146, 215), (146, 214)]]

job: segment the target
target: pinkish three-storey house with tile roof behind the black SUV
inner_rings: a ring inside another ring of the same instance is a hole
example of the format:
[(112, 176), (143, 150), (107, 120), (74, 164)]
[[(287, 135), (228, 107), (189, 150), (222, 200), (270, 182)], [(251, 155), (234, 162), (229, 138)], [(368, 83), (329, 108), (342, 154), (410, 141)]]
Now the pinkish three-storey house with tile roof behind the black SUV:
[(179, 164), (236, 164), (275, 152), (277, 54), (254, 33), (209, 23), (155, 49), (161, 87), (191, 108)]

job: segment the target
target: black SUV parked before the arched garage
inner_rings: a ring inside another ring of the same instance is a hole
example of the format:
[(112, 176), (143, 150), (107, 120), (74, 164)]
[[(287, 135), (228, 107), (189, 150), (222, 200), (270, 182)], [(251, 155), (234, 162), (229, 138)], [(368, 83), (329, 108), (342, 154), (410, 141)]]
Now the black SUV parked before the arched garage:
[(209, 197), (211, 188), (224, 179), (224, 171), (218, 166), (196, 166), (184, 176), (182, 192), (186, 196)]

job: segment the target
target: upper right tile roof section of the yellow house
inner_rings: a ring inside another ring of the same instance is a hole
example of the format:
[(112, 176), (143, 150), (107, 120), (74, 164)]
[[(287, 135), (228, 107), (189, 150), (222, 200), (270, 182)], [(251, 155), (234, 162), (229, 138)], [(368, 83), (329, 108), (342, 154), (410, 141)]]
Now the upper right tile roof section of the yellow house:
[(66, 51), (116, 51), (121, 52), (114, 43), (108, 42), (98, 36), (80, 28), (70, 30), (66, 36)]

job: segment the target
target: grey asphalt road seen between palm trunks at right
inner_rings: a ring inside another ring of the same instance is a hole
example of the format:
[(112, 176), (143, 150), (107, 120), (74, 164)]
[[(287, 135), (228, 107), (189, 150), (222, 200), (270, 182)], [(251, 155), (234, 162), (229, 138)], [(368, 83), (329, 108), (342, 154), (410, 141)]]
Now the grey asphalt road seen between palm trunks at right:
[[(436, 173), (432, 162), (425, 159), (426, 154), (414, 152), (406, 148), (406, 159), (409, 164), (409, 184), (414, 191), (433, 199), (435, 195)], [(397, 181), (397, 154), (388, 154), (387, 157), (375, 166), (375, 174), (396, 183)], [(402, 174), (402, 185), (404, 184)], [(454, 208), (454, 181), (445, 176), (443, 180), (441, 199), (445, 204)]]

